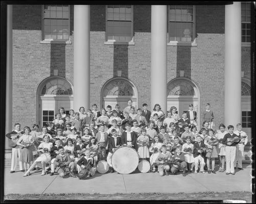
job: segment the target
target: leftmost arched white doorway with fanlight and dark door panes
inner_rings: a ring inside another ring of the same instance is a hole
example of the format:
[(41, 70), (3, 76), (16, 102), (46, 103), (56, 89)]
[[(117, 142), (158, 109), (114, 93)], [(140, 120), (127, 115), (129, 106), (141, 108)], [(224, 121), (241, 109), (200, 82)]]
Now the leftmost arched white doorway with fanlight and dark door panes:
[(54, 120), (59, 107), (68, 114), (73, 109), (73, 86), (62, 77), (50, 77), (43, 80), (37, 89), (37, 124), (46, 125)]

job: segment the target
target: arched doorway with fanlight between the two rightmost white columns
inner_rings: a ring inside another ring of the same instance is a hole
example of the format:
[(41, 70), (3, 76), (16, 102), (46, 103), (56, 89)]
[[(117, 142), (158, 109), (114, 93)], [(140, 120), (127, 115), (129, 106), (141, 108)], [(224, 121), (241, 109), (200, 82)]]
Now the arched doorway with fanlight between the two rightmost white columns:
[(197, 123), (200, 124), (199, 89), (188, 78), (171, 80), (167, 85), (167, 110), (175, 106), (181, 117), (183, 111), (189, 110), (190, 104), (193, 104), (197, 112)]

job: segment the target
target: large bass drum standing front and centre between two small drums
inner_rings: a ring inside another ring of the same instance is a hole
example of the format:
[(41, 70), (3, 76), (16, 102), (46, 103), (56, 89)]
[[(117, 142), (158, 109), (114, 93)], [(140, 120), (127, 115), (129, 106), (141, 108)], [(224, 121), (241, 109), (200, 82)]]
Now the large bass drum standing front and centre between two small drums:
[(113, 152), (111, 164), (118, 173), (129, 174), (138, 166), (138, 153), (132, 147), (119, 147)]

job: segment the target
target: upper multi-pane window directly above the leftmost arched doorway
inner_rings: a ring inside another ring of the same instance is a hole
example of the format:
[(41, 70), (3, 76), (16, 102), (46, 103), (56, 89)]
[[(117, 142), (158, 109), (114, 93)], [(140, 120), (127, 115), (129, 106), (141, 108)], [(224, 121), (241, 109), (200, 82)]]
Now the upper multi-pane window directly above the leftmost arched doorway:
[(69, 40), (69, 6), (43, 5), (43, 40)]

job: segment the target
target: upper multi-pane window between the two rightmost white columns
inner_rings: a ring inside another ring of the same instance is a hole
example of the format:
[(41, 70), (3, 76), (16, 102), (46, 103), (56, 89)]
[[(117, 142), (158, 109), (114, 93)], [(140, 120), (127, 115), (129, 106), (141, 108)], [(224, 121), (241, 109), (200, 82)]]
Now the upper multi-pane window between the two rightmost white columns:
[(195, 6), (169, 6), (169, 40), (191, 42), (195, 33)]

